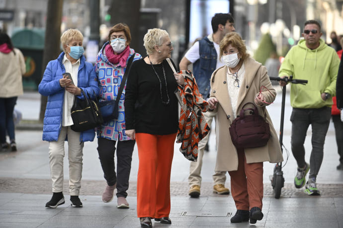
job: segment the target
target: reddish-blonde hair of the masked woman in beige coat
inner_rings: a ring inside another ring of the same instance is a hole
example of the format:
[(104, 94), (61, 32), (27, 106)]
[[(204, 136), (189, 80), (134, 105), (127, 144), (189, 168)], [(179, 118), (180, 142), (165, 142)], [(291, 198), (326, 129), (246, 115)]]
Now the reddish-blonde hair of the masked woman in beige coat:
[(243, 61), (249, 57), (249, 54), (247, 53), (247, 47), (244, 43), (244, 40), (242, 40), (242, 37), (237, 32), (229, 32), (219, 43), (219, 58), (222, 58), (223, 53), (230, 44), (238, 49), (238, 52), (242, 55), (241, 58)]

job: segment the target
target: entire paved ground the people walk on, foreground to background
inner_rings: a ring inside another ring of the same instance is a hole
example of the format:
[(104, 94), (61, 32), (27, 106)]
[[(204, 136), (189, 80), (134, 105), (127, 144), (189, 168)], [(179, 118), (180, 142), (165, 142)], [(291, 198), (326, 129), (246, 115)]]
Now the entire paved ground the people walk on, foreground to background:
[[(286, 98), (284, 145), (290, 152), (289, 97)], [(26, 93), (19, 97), (16, 108), (23, 118), (38, 119), (39, 94)], [(267, 109), (276, 131), (279, 128), (281, 95)], [(214, 126), (212, 126), (214, 127)], [(96, 139), (86, 143), (81, 196), (84, 207), (72, 208), (68, 193), (68, 154), (64, 160), (64, 194), (66, 203), (57, 209), (45, 208), (51, 198), (51, 180), (48, 159), (48, 143), (42, 142), (41, 131), (17, 130), (18, 152), (0, 152), (0, 227), (119, 227), (138, 228), (136, 214), (136, 179), (138, 154), (135, 147), (130, 174), (128, 202), (130, 209), (117, 209), (116, 197), (111, 203), (101, 201), (105, 186), (103, 173), (96, 151)], [(187, 196), (189, 161), (178, 151), (175, 144), (171, 171), (171, 225), (153, 223), (154, 227), (248, 227), (249, 223), (231, 224), (236, 212), (231, 195), (212, 193), (212, 174), (215, 165), (215, 135), (210, 135), (210, 152), (204, 154), (201, 195), (198, 199)], [(311, 151), (311, 129), (305, 142), (306, 160)], [(67, 149), (67, 146), (66, 146)], [(286, 160), (286, 152), (284, 158)], [(343, 228), (343, 171), (338, 165), (337, 146), (333, 124), (330, 124), (324, 148), (324, 160), (317, 178), (322, 196), (310, 197), (303, 189), (293, 187), (296, 162), (290, 154), (284, 166), (285, 187), (281, 198), (274, 199), (269, 175), (273, 164), (264, 162), (264, 218), (256, 227), (311, 227)], [(226, 186), (230, 187), (227, 175)], [(254, 225), (253, 225), (254, 226)]]

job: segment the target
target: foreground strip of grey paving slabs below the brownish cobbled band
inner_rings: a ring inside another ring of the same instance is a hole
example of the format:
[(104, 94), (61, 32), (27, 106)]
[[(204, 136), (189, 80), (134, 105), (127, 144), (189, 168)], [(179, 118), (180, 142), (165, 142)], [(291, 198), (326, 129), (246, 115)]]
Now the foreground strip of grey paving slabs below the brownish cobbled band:
[[(117, 209), (115, 202), (103, 203), (100, 196), (80, 196), (83, 208), (66, 203), (44, 208), (50, 195), (1, 193), (0, 227), (25, 228), (139, 228), (136, 197), (128, 196), (130, 209)], [(315, 209), (315, 212), (313, 211)], [(232, 224), (236, 207), (229, 196), (171, 197), (171, 225), (153, 222), (155, 228), (248, 227)], [(264, 217), (253, 227), (339, 228), (343, 226), (343, 199), (326, 197), (264, 198)]]

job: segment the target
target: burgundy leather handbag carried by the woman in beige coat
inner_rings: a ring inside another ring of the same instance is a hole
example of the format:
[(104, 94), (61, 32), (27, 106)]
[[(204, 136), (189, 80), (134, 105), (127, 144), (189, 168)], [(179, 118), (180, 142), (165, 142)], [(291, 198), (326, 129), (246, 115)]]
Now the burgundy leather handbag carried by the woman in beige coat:
[[(244, 108), (247, 104), (252, 104), (254, 108)], [(245, 111), (250, 111), (251, 115), (245, 115)], [(236, 148), (256, 148), (265, 146), (270, 138), (269, 124), (264, 118), (258, 115), (255, 104), (248, 102), (243, 105), (238, 116), (229, 128), (232, 143)]]

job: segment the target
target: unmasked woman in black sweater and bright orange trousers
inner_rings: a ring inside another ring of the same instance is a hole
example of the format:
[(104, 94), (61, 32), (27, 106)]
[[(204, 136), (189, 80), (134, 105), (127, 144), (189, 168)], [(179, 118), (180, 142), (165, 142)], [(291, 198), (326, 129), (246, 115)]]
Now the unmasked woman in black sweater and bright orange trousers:
[(132, 64), (127, 79), (125, 133), (138, 147), (137, 216), (141, 227), (152, 227), (151, 218), (171, 224), (171, 161), (178, 127), (174, 92), (184, 78), (169, 63), (173, 47), (166, 30), (149, 29), (144, 46), (148, 56)]

